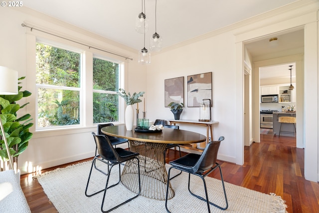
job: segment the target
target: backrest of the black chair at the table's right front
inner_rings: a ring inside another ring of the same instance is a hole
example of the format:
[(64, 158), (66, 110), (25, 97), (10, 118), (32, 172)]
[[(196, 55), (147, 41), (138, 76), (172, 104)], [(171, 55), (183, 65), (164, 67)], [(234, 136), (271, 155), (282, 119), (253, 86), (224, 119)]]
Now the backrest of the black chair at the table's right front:
[(213, 167), (217, 161), (220, 142), (224, 139), (225, 138), (221, 136), (219, 137), (218, 141), (211, 141), (206, 145), (203, 153), (193, 167), (194, 173), (202, 173)]

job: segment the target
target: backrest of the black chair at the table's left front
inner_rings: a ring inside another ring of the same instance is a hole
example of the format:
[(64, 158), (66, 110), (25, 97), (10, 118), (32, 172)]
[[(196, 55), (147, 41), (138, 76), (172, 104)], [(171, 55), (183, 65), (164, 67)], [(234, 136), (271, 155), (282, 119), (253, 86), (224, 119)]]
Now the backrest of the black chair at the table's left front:
[(99, 156), (107, 161), (116, 162), (119, 159), (119, 154), (112, 146), (109, 138), (106, 135), (96, 135), (94, 132), (92, 132), (92, 135), (94, 137)]

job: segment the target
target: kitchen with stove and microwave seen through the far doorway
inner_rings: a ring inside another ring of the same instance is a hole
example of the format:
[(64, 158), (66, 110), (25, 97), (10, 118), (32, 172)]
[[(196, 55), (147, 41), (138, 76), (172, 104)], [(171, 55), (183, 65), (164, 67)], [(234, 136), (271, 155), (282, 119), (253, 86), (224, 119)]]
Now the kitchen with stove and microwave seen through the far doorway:
[[(279, 136), (280, 129), (283, 126), (287, 133), (282, 133), (281, 136), (294, 137), (293, 141), (296, 141), (297, 132), (296, 134), (288, 134), (288, 131), (294, 132), (294, 128), (291, 128), (293, 126), (279, 123), (279, 117), (296, 117), (297, 115), (296, 63), (260, 67), (259, 82), (261, 97), (277, 95), (275, 96), (277, 102), (261, 101), (260, 103), (260, 134)], [(294, 88), (290, 88), (290, 85), (293, 85)], [(294, 146), (296, 146), (296, 143)]]

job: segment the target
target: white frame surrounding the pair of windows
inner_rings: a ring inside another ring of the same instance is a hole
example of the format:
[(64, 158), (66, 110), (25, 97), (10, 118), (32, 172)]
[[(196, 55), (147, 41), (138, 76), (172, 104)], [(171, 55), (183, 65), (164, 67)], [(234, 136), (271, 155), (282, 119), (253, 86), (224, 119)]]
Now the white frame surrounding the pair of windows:
[[(80, 133), (83, 131), (92, 132), (96, 130), (97, 124), (93, 124), (93, 57), (102, 57), (102, 59), (114, 61), (120, 64), (121, 72), (119, 75), (119, 88), (126, 88), (127, 86), (127, 65), (128, 62), (123, 60), (122, 57), (118, 57), (113, 54), (101, 52), (93, 48), (87, 48), (81, 44), (74, 43), (69, 40), (57, 38), (53, 35), (47, 35), (41, 32), (27, 31), (26, 32), (26, 90), (32, 93), (31, 96), (26, 98), (29, 102), (27, 106), (28, 113), (35, 120), (37, 119), (37, 88), (36, 88), (36, 49), (35, 44), (43, 43), (52, 45), (57, 48), (66, 49), (82, 54), (81, 58), (81, 91), (80, 91), (80, 125), (67, 125), (52, 128), (37, 128), (37, 121), (33, 122), (34, 125), (30, 128), (33, 132), (33, 138), (41, 138), (48, 136), (57, 136), (65, 134)], [(69, 89), (69, 88), (68, 88)], [(83, 91), (84, 92), (83, 92)], [(116, 92), (114, 92), (116, 93)], [(35, 97), (36, 96), (36, 97)], [(123, 98), (119, 98), (119, 122), (113, 122), (116, 124), (124, 124), (125, 102)], [(34, 121), (33, 120), (33, 121)]]

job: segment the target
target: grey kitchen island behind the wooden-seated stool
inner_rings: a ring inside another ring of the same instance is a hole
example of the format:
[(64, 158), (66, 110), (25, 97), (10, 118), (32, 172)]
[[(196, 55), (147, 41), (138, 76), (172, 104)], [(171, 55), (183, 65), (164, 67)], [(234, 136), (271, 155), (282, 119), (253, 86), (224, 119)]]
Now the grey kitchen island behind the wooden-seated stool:
[[(273, 112), (273, 123), (274, 123), (274, 133), (276, 135), (279, 135), (279, 130), (280, 130), (280, 123), (278, 122), (278, 117), (282, 117), (282, 116), (293, 116), (296, 117), (296, 111), (294, 112)], [(287, 131), (287, 132), (294, 132), (294, 125), (292, 124), (283, 124), (282, 131)], [(287, 134), (287, 133), (281, 133), (280, 136), (290, 136), (290, 137), (295, 137), (295, 134)]]

